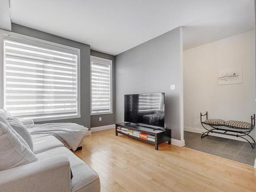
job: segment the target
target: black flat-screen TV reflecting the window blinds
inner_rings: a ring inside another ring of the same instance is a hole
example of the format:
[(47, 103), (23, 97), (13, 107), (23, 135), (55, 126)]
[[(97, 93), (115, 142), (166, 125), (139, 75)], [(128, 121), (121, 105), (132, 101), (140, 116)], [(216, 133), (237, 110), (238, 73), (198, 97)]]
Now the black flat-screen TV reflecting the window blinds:
[(164, 93), (124, 95), (124, 121), (164, 128)]

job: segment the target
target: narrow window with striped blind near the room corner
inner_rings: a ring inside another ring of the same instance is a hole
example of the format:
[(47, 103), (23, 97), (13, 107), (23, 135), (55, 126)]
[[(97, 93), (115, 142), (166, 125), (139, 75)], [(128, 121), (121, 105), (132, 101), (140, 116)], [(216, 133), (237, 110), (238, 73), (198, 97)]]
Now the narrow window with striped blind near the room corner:
[(91, 56), (91, 115), (111, 113), (112, 60)]

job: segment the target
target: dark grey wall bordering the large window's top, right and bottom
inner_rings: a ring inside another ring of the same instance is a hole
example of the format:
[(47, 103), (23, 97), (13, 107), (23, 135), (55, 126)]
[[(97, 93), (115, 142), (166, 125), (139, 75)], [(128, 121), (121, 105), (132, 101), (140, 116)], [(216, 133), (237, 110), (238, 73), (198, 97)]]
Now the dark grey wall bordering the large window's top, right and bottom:
[(66, 45), (80, 49), (80, 98), (81, 98), (81, 118), (74, 119), (62, 119), (54, 121), (43, 121), (36, 123), (48, 123), (48, 122), (73, 122), (84, 125), (86, 127), (91, 126), (90, 117), (90, 46), (82, 44), (77, 41), (62, 38), (49, 33), (41, 32), (35, 29), (27, 28), (24, 26), (12, 24), (12, 32), (35, 37), (42, 40), (55, 42), (57, 44)]

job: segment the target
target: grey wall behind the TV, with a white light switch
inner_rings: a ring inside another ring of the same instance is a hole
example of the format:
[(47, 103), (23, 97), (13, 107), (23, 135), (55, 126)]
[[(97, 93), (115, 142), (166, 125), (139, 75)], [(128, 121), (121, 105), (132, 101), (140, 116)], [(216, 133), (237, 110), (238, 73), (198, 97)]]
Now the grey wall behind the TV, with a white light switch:
[(116, 56), (116, 122), (124, 120), (125, 94), (164, 92), (166, 127), (183, 140), (182, 44), (178, 27)]

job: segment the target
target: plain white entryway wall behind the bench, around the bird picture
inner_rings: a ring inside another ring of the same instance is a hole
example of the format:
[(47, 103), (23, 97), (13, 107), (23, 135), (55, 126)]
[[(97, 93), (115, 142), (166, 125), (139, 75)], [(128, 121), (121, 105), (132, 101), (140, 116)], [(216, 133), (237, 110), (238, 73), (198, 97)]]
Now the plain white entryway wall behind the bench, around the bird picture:
[[(184, 129), (208, 118), (250, 122), (255, 113), (254, 30), (183, 52)], [(218, 85), (218, 70), (243, 67), (243, 83)], [(253, 134), (255, 135), (255, 133)]]

